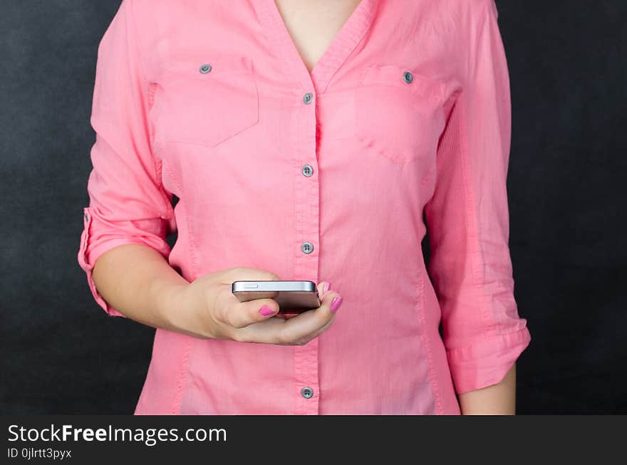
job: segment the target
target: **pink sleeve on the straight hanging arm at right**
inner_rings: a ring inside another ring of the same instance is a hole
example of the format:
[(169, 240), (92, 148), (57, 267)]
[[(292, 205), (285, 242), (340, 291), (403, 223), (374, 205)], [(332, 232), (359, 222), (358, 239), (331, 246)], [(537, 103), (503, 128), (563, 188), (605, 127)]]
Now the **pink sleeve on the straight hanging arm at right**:
[(493, 0), (480, 2), (425, 205), (430, 278), (458, 394), (503, 380), (531, 335), (514, 300), (507, 168), (509, 75)]

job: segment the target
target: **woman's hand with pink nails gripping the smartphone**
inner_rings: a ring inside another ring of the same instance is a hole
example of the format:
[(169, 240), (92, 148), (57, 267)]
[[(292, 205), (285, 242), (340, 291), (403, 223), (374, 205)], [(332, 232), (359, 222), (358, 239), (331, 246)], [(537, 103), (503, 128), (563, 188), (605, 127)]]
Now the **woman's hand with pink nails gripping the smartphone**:
[[(199, 338), (247, 343), (303, 345), (323, 333), (335, 319), (341, 297), (318, 283), (322, 305), (291, 318), (276, 317), (279, 304), (271, 298), (240, 302), (231, 292), (233, 281), (280, 281), (269, 271), (236, 267), (209, 273), (177, 288), (172, 308), (190, 317), (187, 333)], [(333, 310), (333, 299), (336, 300)], [(190, 327), (191, 326), (191, 327)]]

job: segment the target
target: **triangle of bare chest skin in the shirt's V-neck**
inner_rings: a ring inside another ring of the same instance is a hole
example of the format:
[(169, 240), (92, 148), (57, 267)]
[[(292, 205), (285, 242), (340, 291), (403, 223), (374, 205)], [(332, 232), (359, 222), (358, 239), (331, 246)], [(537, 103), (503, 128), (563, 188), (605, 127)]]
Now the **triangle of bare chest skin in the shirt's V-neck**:
[(274, 0), (311, 73), (360, 0)]

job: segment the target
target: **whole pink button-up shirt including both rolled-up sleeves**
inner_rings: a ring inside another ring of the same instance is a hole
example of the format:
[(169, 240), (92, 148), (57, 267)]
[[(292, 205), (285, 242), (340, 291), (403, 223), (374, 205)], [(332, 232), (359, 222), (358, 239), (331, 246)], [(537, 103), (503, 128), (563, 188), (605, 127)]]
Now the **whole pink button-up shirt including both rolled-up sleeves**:
[(135, 414), (460, 414), (501, 381), (530, 341), (510, 111), (493, 0), (362, 0), (311, 73), (274, 0), (123, 0), (90, 120), (95, 301), (121, 315), (91, 276), (121, 244), (187, 281), (248, 266), (343, 296), (306, 345), (157, 329)]

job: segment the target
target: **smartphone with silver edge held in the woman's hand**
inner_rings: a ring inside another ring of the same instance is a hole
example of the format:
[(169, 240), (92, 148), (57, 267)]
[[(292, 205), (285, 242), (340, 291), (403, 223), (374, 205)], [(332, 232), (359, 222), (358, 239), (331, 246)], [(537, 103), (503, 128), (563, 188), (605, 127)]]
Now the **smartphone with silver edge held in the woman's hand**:
[(233, 281), (231, 292), (240, 302), (274, 299), (283, 315), (303, 313), (321, 305), (314, 281)]

